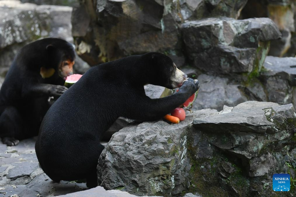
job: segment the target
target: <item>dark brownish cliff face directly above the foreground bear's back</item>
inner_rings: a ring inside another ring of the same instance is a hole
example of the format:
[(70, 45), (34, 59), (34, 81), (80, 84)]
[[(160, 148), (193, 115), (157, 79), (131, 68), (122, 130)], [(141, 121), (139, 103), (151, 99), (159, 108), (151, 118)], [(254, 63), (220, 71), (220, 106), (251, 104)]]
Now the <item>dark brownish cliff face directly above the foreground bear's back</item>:
[(83, 45), (77, 48), (79, 56), (90, 65), (150, 51), (182, 56), (181, 23), (211, 16), (238, 18), (246, 2), (86, 0), (74, 9), (73, 35), (75, 44)]

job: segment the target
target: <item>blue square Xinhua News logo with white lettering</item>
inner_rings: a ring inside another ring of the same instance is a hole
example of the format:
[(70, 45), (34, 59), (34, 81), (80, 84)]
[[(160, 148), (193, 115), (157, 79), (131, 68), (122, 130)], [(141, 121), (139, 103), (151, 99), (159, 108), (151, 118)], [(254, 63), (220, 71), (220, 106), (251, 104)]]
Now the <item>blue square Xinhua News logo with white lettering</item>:
[(274, 174), (272, 176), (272, 188), (274, 191), (290, 191), (290, 175)]

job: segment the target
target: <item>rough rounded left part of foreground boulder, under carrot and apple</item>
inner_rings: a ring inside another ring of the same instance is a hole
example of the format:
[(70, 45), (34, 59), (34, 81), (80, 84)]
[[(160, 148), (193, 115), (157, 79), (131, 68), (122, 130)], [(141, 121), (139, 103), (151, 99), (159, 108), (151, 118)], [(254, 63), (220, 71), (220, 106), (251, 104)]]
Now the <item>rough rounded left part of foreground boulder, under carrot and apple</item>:
[(185, 121), (174, 125), (164, 121), (129, 125), (115, 133), (99, 158), (101, 186), (135, 195), (181, 193), (188, 186), (190, 169), (186, 128), (196, 115), (215, 112), (187, 113)]

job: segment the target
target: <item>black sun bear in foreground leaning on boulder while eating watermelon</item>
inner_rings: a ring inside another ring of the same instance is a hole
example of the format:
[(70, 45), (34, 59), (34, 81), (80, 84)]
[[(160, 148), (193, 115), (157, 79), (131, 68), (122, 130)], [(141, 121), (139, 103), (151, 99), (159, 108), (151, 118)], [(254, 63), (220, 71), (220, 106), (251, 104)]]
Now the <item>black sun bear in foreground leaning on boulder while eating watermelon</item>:
[[(86, 179), (88, 187), (97, 186), (102, 134), (120, 116), (152, 121), (170, 113), (199, 88), (197, 80), (186, 77), (161, 53), (92, 67), (44, 116), (35, 144), (41, 168), (57, 182)], [(145, 95), (145, 84), (182, 86), (176, 94), (151, 99)]]

